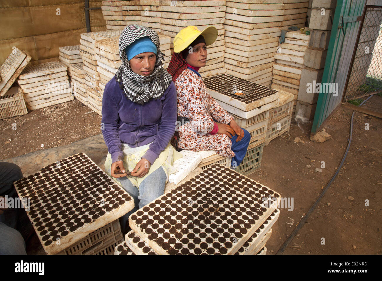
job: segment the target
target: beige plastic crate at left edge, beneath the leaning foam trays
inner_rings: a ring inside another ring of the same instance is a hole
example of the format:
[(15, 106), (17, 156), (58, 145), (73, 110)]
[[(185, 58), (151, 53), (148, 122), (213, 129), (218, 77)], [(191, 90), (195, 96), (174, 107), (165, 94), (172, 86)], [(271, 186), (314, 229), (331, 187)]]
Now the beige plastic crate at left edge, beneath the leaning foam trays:
[(23, 91), (20, 88), (12, 87), (0, 97), (0, 120), (27, 113)]

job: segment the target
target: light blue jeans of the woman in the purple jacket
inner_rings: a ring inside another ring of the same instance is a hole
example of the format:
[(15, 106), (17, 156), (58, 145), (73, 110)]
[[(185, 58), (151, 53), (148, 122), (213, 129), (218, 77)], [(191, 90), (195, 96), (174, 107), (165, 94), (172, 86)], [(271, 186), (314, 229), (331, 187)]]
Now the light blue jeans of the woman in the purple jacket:
[(160, 195), (163, 195), (167, 175), (162, 166), (160, 166), (141, 182), (139, 189), (136, 186), (133, 186), (127, 177), (117, 178), (117, 180), (121, 183), (123, 189), (125, 189), (134, 199), (134, 209), (120, 218), (121, 231), (123, 234), (126, 234), (126, 232), (130, 230), (129, 216), (158, 198)]

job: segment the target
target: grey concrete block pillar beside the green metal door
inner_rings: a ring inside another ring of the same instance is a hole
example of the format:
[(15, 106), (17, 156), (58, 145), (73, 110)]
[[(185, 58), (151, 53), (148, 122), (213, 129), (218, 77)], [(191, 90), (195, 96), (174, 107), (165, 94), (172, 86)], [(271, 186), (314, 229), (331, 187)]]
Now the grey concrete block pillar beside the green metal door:
[(321, 83), (325, 59), (329, 46), (330, 31), (337, 0), (309, 0), (308, 28), (310, 40), (304, 55), (295, 116), (313, 119), (318, 93), (311, 91), (316, 83)]

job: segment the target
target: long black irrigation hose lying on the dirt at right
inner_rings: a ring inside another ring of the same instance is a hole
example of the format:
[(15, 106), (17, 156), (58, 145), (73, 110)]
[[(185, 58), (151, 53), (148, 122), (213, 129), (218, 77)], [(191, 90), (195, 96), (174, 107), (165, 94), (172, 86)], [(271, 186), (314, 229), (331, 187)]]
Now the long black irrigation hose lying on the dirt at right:
[[(369, 96), (367, 99), (365, 99), (359, 106), (363, 105), (368, 99), (370, 99), (373, 95)], [(319, 201), (322, 199), (322, 197), (325, 195), (327, 190), (329, 189), (329, 186), (332, 184), (333, 180), (337, 177), (338, 173), (341, 170), (343, 162), (345, 162), (346, 155), (348, 155), (348, 151), (351, 144), (351, 137), (353, 136), (353, 117), (354, 117), (355, 110), (353, 110), (353, 114), (351, 114), (351, 122), (350, 122), (350, 136), (349, 136), (349, 143), (348, 147), (346, 147), (345, 154), (343, 154), (342, 161), (340, 163), (340, 166), (338, 166), (337, 171), (335, 171), (332, 179), (328, 182), (326, 187), (322, 190), (319, 197), (316, 199), (316, 201), (313, 203), (313, 205), (310, 207), (309, 211), (305, 214), (305, 216), (301, 219), (301, 221), (298, 223), (295, 229), (293, 229), (292, 233), (288, 236), (284, 244), (278, 249), (276, 255), (282, 255), (282, 253), (285, 251), (286, 247), (292, 242), (292, 240), (295, 238), (297, 232), (301, 229), (301, 227), (304, 226), (304, 223), (308, 220), (310, 214), (313, 212), (313, 210), (316, 208)]]

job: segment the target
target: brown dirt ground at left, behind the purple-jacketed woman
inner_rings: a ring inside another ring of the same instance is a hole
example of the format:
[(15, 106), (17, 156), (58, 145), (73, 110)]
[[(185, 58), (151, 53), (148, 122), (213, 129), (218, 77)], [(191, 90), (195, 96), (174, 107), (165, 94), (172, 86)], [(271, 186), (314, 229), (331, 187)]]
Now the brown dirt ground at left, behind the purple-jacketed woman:
[(100, 123), (101, 116), (77, 99), (0, 120), (0, 159), (98, 135)]

